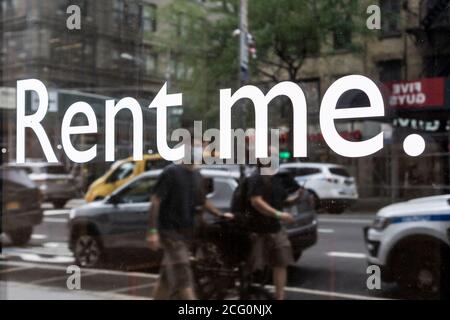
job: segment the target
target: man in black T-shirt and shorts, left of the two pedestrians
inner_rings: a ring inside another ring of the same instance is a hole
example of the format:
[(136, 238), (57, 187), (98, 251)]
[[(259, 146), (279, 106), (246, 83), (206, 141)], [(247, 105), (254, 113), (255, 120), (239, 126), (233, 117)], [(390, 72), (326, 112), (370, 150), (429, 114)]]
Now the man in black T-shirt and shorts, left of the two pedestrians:
[(162, 248), (164, 251), (153, 296), (169, 299), (177, 294), (181, 299), (195, 299), (189, 264), (195, 213), (203, 207), (215, 216), (232, 218), (232, 215), (222, 214), (205, 199), (199, 171), (186, 164), (173, 164), (164, 169), (151, 196), (151, 204), (147, 241), (152, 250)]

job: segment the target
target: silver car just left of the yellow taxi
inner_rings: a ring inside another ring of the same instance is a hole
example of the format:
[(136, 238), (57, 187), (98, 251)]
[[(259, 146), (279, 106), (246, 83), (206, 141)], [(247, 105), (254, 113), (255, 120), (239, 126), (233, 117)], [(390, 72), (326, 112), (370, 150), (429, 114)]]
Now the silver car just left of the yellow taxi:
[(25, 170), (39, 187), (44, 202), (51, 202), (55, 208), (63, 208), (67, 201), (80, 195), (74, 177), (59, 163), (30, 161), (24, 164), (9, 164), (10, 167)]

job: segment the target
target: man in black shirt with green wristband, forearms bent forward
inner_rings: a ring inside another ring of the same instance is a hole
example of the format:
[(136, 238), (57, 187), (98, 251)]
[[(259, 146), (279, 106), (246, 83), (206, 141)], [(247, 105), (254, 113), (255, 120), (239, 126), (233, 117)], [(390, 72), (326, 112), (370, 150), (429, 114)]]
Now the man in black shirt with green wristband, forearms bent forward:
[[(273, 152), (273, 151), (272, 151)], [(272, 155), (273, 156), (273, 155)], [(289, 196), (286, 181), (279, 175), (261, 175), (261, 166), (248, 178), (250, 230), (254, 232), (253, 248), (249, 259), (252, 270), (269, 266), (273, 269), (276, 299), (284, 299), (287, 266), (294, 262), (291, 243), (280, 222), (292, 223), (292, 215), (283, 208), (295, 204), (301, 196)], [(284, 178), (286, 179), (286, 178)], [(297, 185), (292, 179), (291, 185)], [(297, 185), (298, 186), (298, 185)]]

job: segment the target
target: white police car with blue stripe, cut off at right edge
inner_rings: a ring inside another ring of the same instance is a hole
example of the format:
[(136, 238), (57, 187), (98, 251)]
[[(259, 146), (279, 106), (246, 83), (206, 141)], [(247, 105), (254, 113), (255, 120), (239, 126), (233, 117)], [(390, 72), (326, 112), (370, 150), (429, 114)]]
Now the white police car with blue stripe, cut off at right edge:
[(382, 208), (364, 229), (368, 263), (385, 282), (423, 293), (448, 293), (450, 194)]

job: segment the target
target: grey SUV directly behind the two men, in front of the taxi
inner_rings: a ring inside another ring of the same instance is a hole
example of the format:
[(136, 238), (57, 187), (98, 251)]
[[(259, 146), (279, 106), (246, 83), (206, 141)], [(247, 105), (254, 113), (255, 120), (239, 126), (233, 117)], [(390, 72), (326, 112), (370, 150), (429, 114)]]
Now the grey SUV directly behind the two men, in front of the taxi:
[[(147, 249), (146, 231), (149, 215), (149, 197), (161, 170), (148, 171), (117, 189), (109, 197), (72, 209), (70, 213), (69, 248), (76, 262), (84, 267), (97, 266), (106, 251)], [(227, 212), (238, 173), (219, 170), (201, 170), (207, 197)], [(296, 259), (317, 241), (317, 220), (313, 210), (300, 206), (293, 208), (296, 222), (286, 226)], [(209, 216), (209, 215), (208, 215)]]

